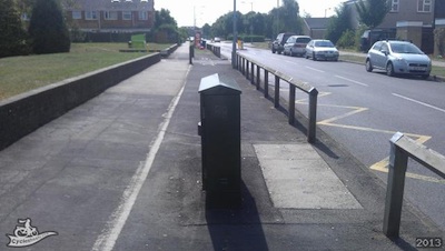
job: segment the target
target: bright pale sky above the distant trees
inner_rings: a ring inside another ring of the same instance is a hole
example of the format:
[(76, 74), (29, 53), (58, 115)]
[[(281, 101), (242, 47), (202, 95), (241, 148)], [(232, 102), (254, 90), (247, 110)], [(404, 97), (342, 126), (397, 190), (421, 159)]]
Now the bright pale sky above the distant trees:
[[(236, 0), (237, 10), (247, 13), (268, 13), (281, 0)], [(309, 13), (313, 18), (323, 18), (334, 14), (334, 9), (346, 0), (297, 0), (300, 16)], [(210, 26), (221, 16), (234, 10), (233, 0), (155, 0), (155, 10), (168, 9), (179, 27)]]

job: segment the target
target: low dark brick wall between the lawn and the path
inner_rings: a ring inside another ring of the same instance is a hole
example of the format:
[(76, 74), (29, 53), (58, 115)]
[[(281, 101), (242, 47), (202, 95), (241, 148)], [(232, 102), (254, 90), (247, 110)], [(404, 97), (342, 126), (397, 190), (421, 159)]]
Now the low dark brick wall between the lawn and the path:
[(160, 59), (150, 54), (0, 101), (0, 150)]

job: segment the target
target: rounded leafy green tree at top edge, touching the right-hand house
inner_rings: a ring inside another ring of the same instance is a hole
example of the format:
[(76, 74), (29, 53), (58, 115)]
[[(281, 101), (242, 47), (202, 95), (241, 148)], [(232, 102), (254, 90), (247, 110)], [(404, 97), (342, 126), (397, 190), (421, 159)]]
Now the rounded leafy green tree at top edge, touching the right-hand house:
[(388, 0), (360, 0), (355, 6), (359, 22), (369, 27), (369, 29), (380, 24), (390, 10)]

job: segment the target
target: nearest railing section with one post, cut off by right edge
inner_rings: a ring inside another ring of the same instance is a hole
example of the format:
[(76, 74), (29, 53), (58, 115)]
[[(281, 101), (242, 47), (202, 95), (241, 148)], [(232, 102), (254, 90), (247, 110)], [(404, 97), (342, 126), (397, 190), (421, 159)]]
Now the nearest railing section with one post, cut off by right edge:
[(417, 143), (400, 132), (393, 135), (390, 139), (389, 172), (383, 222), (383, 232), (388, 238), (398, 238), (408, 158), (416, 160), (437, 175), (445, 178), (444, 155)]

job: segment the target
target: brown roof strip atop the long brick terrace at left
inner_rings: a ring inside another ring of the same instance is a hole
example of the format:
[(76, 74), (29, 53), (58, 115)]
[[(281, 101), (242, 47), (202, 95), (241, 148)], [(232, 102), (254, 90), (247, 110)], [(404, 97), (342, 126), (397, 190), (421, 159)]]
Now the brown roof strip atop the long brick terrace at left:
[(154, 10), (155, 0), (72, 0), (67, 10)]

